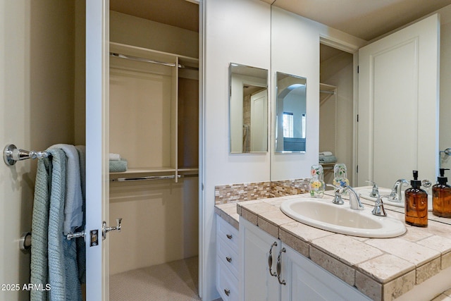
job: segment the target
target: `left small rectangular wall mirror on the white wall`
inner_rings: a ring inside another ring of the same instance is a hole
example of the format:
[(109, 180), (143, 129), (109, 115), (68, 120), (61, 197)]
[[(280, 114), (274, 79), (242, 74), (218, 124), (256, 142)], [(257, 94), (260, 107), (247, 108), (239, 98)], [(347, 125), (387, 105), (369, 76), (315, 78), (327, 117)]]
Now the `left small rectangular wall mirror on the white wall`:
[(268, 151), (268, 70), (230, 63), (230, 152)]

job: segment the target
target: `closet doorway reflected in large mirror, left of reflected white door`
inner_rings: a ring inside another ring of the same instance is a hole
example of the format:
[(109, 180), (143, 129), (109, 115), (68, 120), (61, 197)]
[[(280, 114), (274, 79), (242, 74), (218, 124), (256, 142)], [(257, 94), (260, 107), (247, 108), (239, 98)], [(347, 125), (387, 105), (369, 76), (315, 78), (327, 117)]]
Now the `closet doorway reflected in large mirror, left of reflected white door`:
[[(353, 54), (320, 44), (319, 152), (324, 181), (332, 184), (333, 166), (344, 163), (352, 185), (354, 171)], [(323, 163), (321, 163), (323, 161)]]

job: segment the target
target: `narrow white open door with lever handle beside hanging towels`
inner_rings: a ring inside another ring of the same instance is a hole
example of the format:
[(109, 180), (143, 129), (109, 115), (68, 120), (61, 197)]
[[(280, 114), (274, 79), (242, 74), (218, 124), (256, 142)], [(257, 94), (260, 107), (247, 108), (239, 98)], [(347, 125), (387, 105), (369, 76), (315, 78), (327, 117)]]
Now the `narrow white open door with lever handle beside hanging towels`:
[[(108, 300), (107, 245), (101, 223), (108, 221), (108, 0), (86, 0), (86, 297)], [(91, 246), (91, 231), (97, 244)]]

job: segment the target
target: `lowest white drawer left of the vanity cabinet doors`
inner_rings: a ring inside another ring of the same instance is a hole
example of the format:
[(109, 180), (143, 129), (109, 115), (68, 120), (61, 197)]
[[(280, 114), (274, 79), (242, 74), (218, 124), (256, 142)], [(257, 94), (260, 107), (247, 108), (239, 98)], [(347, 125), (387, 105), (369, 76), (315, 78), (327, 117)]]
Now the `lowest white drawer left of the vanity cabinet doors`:
[(216, 288), (223, 301), (239, 300), (238, 279), (219, 258), (216, 258), (216, 269)]

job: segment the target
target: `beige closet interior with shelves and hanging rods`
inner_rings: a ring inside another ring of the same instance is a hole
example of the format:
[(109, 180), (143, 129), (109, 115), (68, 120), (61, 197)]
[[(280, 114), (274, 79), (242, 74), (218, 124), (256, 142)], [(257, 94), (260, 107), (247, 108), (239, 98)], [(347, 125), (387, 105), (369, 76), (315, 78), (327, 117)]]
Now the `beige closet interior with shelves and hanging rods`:
[(197, 300), (198, 20), (185, 0), (110, 1), (109, 152), (127, 161), (110, 173), (110, 300)]

